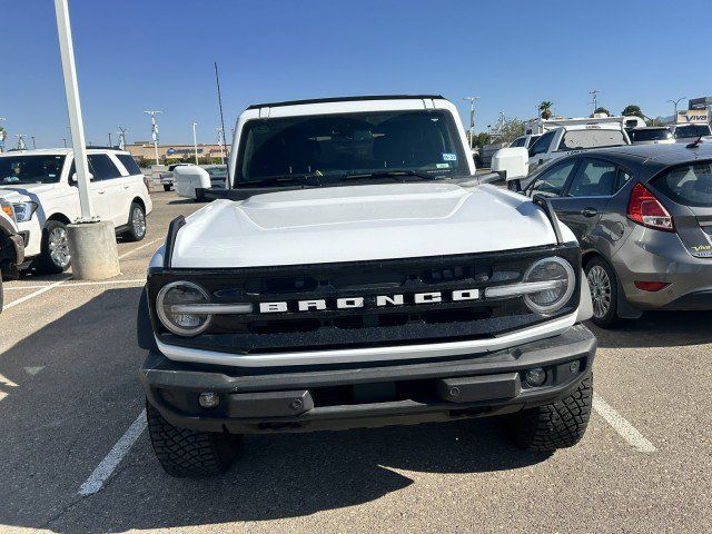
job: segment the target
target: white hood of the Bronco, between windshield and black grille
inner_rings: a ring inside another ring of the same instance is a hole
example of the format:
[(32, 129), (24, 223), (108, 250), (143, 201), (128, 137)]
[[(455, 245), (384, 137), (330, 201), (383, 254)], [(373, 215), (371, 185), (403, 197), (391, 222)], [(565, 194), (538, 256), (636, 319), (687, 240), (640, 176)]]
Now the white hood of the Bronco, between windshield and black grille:
[(217, 200), (186, 219), (171, 266), (326, 264), (554, 243), (537, 206), (494, 186), (347, 186), (258, 195), (243, 202)]

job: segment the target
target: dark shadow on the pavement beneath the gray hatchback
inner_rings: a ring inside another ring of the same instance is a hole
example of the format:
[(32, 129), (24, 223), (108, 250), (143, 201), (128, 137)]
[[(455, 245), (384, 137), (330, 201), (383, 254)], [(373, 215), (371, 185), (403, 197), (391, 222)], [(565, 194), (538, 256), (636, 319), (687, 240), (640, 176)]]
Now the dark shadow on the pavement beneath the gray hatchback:
[(587, 323), (602, 348), (682, 347), (712, 343), (712, 312), (647, 312), (614, 329)]

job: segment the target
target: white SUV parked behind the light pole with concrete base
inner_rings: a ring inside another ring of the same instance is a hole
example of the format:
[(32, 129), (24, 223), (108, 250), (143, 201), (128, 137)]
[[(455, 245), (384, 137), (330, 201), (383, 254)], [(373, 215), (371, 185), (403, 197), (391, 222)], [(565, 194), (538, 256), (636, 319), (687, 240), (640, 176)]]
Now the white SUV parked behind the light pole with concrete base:
[[(90, 196), (95, 215), (110, 220), (117, 235), (140, 241), (152, 209), (148, 184), (129, 152), (89, 149)], [(0, 155), (0, 198), (14, 208), (24, 256), (44, 273), (70, 265), (67, 225), (80, 216), (70, 149), (20, 150)], [(24, 266), (29, 266), (27, 261)]]

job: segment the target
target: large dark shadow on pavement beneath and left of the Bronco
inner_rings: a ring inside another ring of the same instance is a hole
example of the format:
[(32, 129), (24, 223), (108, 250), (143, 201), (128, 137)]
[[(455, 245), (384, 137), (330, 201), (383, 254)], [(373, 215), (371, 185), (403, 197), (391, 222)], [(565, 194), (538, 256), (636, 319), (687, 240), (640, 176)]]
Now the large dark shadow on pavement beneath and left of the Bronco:
[[(547, 457), (516, 449), (496, 421), (473, 419), (248, 436), (227, 474), (175, 479), (144, 433), (105, 487), (80, 497), (142, 408), (140, 291), (105, 290), (0, 354), (0, 373), (18, 386), (0, 387), (0, 525), (83, 533), (297, 517), (406, 488), (408, 472), (490, 473)], [(2, 332), (10, 320), (0, 316)]]

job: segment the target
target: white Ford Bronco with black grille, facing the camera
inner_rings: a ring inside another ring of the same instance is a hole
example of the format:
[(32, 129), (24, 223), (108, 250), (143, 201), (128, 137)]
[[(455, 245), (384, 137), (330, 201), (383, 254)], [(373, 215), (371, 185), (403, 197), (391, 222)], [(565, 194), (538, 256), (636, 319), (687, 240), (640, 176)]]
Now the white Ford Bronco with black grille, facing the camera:
[(578, 245), (546, 199), (482, 182), (453, 103), (251, 106), (229, 176), (171, 222), (139, 305), (169, 474), (222, 472), (254, 433), (498, 415), (525, 448), (581, 439), (596, 342)]

